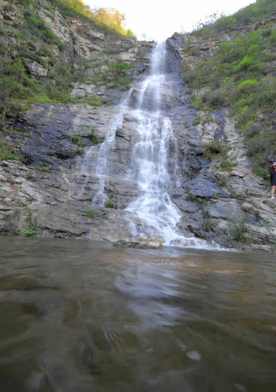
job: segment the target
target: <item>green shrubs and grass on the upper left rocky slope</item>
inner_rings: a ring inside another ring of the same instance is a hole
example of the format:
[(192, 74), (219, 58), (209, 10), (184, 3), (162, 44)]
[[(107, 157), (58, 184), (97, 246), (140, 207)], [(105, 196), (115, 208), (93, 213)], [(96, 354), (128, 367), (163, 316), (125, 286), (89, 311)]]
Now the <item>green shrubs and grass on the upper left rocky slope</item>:
[[(65, 49), (65, 45), (46, 27), (44, 20), (29, 7), (24, 11), (24, 24), (20, 26), (16, 38), (20, 40), (18, 58), (14, 61), (0, 60), (0, 129), (5, 129), (6, 116), (16, 118), (32, 103), (76, 103), (69, 95), (69, 86), (72, 82), (82, 80), (85, 71), (83, 67), (75, 71), (73, 65), (61, 62), (53, 73), (48, 74), (54, 83), (46, 80), (42, 85), (29, 76), (27, 64), (30, 60), (44, 68), (53, 67), (55, 60), (51, 50)], [(34, 44), (38, 39), (44, 42), (40, 49)]]

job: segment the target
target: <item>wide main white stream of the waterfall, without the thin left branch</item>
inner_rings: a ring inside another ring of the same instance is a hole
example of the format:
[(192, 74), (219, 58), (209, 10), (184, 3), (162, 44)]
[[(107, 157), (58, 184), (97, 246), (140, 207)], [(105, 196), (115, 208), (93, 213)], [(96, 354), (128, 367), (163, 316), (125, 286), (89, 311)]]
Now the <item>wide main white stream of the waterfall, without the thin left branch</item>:
[[(169, 117), (162, 114), (166, 47), (156, 44), (151, 57), (151, 73), (141, 83), (137, 107), (132, 111), (138, 123), (138, 142), (133, 147), (133, 164), (129, 180), (138, 183), (139, 198), (132, 202), (127, 211), (132, 212), (142, 223), (131, 221), (133, 237), (160, 236), (165, 245), (206, 248), (207, 243), (197, 238), (184, 237), (177, 228), (181, 214), (171, 201), (168, 190), (172, 188), (168, 172), (170, 138), (174, 139)], [(175, 150), (175, 161), (177, 159)], [(179, 185), (178, 165), (175, 166), (176, 186)]]

